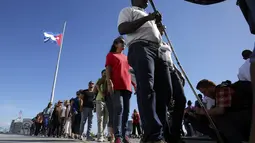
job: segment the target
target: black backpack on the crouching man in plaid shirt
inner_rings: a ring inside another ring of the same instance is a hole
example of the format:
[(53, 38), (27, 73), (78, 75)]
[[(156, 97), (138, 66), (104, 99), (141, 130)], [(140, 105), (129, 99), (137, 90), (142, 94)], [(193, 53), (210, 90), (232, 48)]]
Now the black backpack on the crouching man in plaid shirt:
[(231, 81), (227, 80), (217, 87), (230, 87), (234, 90), (230, 110), (237, 111), (252, 109), (253, 90), (252, 83), (250, 81), (239, 80), (235, 83), (231, 83)]

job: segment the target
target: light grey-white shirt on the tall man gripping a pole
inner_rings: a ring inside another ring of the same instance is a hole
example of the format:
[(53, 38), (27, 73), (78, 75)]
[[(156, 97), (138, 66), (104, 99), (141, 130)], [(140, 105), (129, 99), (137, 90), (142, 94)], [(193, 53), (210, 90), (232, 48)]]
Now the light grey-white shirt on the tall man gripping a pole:
[[(145, 16), (148, 16), (148, 13), (142, 8), (136, 6), (126, 7), (119, 14), (118, 26), (124, 22), (132, 22)], [(148, 21), (134, 33), (127, 34), (126, 41), (128, 46), (136, 40), (147, 40), (159, 44), (162, 42), (162, 36), (155, 24), (155, 20)]]

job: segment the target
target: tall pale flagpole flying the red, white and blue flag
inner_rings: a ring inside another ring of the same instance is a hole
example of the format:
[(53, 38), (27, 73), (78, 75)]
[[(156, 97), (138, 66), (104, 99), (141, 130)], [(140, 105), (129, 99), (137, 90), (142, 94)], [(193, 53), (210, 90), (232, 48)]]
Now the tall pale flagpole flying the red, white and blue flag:
[(54, 96), (55, 96), (55, 88), (56, 88), (56, 82), (57, 82), (57, 77), (58, 77), (58, 68), (59, 68), (59, 62), (60, 62), (61, 52), (62, 52), (62, 48), (63, 48), (65, 30), (66, 30), (66, 21), (64, 23), (63, 35), (62, 35), (61, 44), (60, 44), (60, 48), (59, 48), (59, 52), (58, 52), (58, 60), (57, 60), (57, 65), (56, 65), (56, 70), (55, 70), (54, 80), (53, 80), (53, 85), (52, 85), (52, 91), (51, 91), (51, 97), (50, 97), (51, 103), (53, 103)]

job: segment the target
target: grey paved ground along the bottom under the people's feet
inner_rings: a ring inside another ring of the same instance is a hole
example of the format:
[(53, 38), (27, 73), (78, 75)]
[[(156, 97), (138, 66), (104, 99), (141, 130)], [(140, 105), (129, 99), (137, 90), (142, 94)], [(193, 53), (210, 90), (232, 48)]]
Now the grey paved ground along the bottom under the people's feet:
[[(132, 139), (132, 143), (139, 143), (138, 139)], [(58, 139), (58, 138), (40, 138), (23, 135), (0, 134), (0, 143), (84, 143), (83, 141)], [(97, 142), (90, 142), (97, 143)], [(210, 141), (188, 140), (186, 143), (214, 143)]]

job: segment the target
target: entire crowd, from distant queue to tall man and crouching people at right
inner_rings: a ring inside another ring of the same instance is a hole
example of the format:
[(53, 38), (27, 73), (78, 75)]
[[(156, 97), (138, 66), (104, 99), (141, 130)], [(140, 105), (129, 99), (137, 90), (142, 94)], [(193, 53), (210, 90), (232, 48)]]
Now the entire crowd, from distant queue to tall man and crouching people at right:
[[(118, 18), (120, 35), (113, 41), (106, 56), (102, 77), (88, 84), (88, 89), (76, 92), (77, 97), (59, 101), (52, 109), (52, 103), (35, 118), (35, 135), (81, 139), (91, 136), (93, 112), (98, 120), (97, 141), (105, 141), (108, 127), (111, 143), (130, 143), (128, 118), (132, 85), (137, 94), (138, 111), (134, 111), (133, 135), (142, 136), (141, 143), (180, 143), (182, 123), (191, 136), (194, 132), (221, 141), (208, 116), (226, 143), (247, 141), (252, 118), (252, 86), (250, 77), (251, 51), (242, 55), (246, 60), (240, 68), (239, 81), (214, 82), (203, 79), (196, 88), (201, 92), (199, 101), (192, 107), (183, 86), (185, 80), (171, 58), (169, 43), (162, 39), (164, 26), (159, 12), (148, 14), (145, 8), (148, 0), (131, 0), (132, 6), (121, 10)], [(129, 47), (128, 56), (123, 54)], [(204, 98), (202, 97), (202, 94)], [(169, 114), (170, 113), (170, 118)], [(170, 120), (171, 119), (171, 120)], [(84, 125), (88, 123), (86, 133)]]

